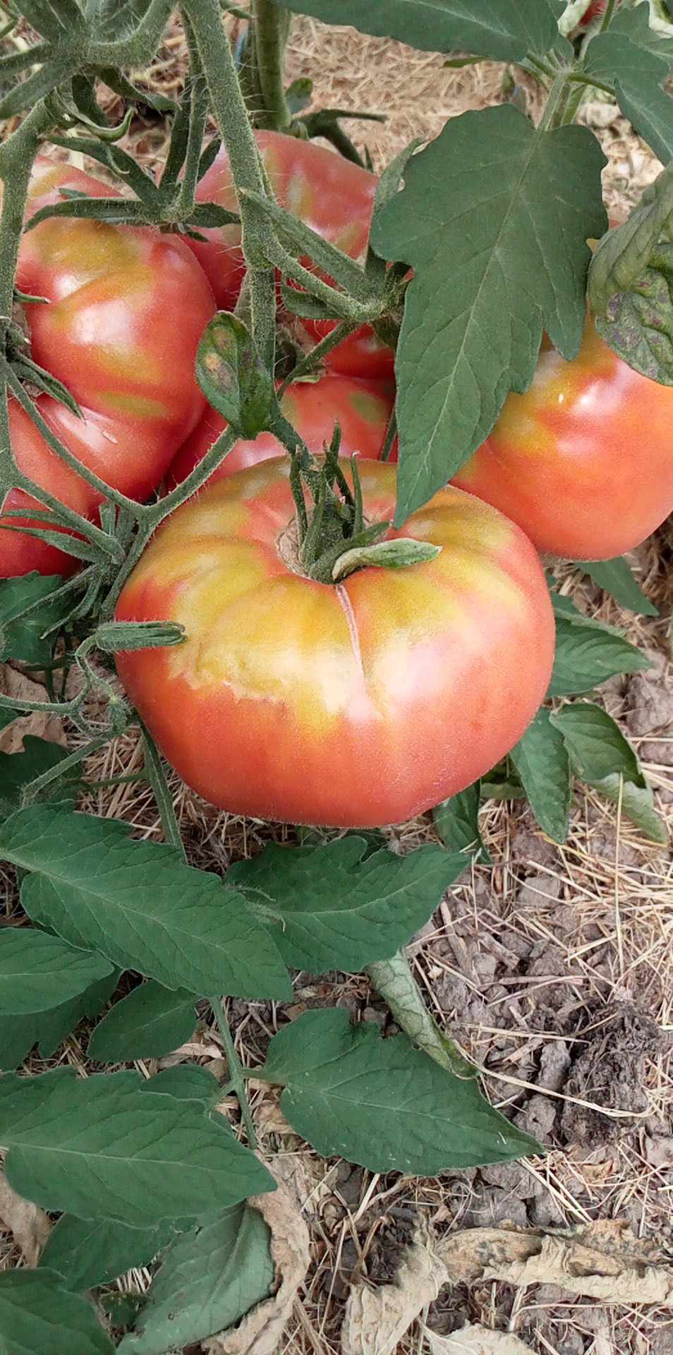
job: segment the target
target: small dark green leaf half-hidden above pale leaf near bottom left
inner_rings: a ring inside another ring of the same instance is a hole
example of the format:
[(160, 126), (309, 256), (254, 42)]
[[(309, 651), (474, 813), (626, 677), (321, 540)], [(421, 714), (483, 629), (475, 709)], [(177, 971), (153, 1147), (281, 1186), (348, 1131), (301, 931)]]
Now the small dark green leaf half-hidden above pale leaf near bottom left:
[(108, 1285), (131, 1266), (149, 1266), (175, 1232), (171, 1222), (129, 1228), (107, 1218), (62, 1214), (49, 1234), (39, 1268), (58, 1271), (65, 1289), (95, 1289)]

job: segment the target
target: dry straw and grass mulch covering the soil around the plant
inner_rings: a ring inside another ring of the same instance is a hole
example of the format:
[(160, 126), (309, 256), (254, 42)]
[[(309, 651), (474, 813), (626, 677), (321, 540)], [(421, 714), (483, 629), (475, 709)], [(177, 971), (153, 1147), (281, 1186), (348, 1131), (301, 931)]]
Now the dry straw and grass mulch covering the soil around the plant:
[[(179, 87), (181, 56), (181, 37), (175, 33), (150, 73), (164, 89)], [(504, 69), (483, 62), (446, 70), (440, 57), (297, 20), (290, 76), (309, 73), (316, 81), (316, 106), (386, 114), (385, 126), (353, 122), (349, 127), (381, 168), (412, 137), (432, 137), (447, 117), (501, 98)], [(524, 95), (535, 103), (535, 89), (527, 87)], [(615, 110), (597, 103), (585, 117), (601, 137), (608, 156), (605, 195), (619, 210), (654, 178), (657, 161)], [(161, 159), (165, 127), (148, 121), (133, 130), (131, 141), (153, 164)], [(635, 557), (643, 587), (662, 608), (655, 621), (622, 614), (590, 581), (570, 569), (559, 572), (563, 589), (580, 606), (623, 625), (631, 638), (659, 656), (657, 699), (670, 679), (670, 667), (664, 667), (670, 554), (670, 542), (661, 535)], [(604, 688), (603, 699), (631, 730), (658, 808), (673, 828), (673, 725), (668, 732), (647, 725), (650, 698), (647, 683), (616, 680)], [(102, 779), (139, 768), (135, 737), (126, 734), (89, 764), (88, 775)], [(223, 870), (269, 837), (288, 835), (286, 828), (221, 814), (177, 780), (173, 794), (195, 864)], [(88, 805), (95, 813), (127, 820), (144, 836), (161, 836), (156, 806), (142, 785), (92, 793)], [(431, 1009), (485, 1069), (490, 1098), (536, 1129), (550, 1145), (548, 1156), (523, 1167), (444, 1173), (439, 1180), (374, 1176), (317, 1159), (284, 1123), (275, 1091), (256, 1085), (253, 1108), (263, 1148), (283, 1154), (313, 1236), (314, 1266), (283, 1344), (291, 1355), (337, 1355), (351, 1278), (390, 1278), (420, 1211), (439, 1229), (506, 1217), (544, 1226), (628, 1217), (636, 1232), (673, 1249), (672, 855), (649, 847), (615, 806), (580, 787), (562, 848), (517, 805), (492, 804), (483, 828), (493, 870), (466, 871), (413, 943), (413, 965)], [(408, 850), (432, 837), (432, 827), (418, 820), (391, 836)], [(363, 1019), (386, 1022), (382, 1004), (357, 976), (299, 974), (290, 1012), (314, 1004), (347, 1005)], [(255, 1066), (288, 1008), (229, 1005), (241, 1057)], [(58, 1057), (87, 1072), (85, 1042), (87, 1033), (80, 1030)], [(198, 1058), (215, 1072), (223, 1068), (219, 1038), (207, 1019), (194, 1042), (161, 1066), (176, 1058)], [(43, 1065), (32, 1058), (30, 1066)], [(160, 1065), (139, 1066), (150, 1075)], [(600, 1106), (603, 1114), (590, 1106)], [(233, 1103), (226, 1108), (234, 1115)], [(0, 1266), (14, 1260), (9, 1249), (0, 1255)], [(119, 1280), (119, 1289), (144, 1289), (148, 1280), (148, 1271), (134, 1271)], [(666, 1355), (673, 1350), (669, 1313), (571, 1304), (559, 1290), (485, 1285), (440, 1295), (428, 1314), (429, 1325), (440, 1332), (466, 1320), (516, 1331), (539, 1355)], [(412, 1328), (399, 1352), (422, 1355), (424, 1348), (422, 1336)]]

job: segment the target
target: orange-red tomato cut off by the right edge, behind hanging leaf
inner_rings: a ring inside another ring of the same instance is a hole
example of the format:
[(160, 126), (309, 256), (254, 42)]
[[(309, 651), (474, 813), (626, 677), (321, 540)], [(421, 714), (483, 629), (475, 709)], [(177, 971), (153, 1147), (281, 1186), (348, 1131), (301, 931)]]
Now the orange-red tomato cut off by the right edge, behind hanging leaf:
[(628, 367), (588, 321), (566, 362), (548, 340), (454, 484), (500, 508), (539, 550), (611, 560), (673, 511), (673, 389)]

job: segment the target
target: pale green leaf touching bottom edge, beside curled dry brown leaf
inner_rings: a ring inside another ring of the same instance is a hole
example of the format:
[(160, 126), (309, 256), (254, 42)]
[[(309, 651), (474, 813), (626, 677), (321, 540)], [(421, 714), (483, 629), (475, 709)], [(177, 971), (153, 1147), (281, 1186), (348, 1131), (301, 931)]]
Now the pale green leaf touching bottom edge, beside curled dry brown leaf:
[(121, 1355), (162, 1355), (237, 1322), (272, 1290), (269, 1240), (261, 1214), (248, 1203), (176, 1237)]

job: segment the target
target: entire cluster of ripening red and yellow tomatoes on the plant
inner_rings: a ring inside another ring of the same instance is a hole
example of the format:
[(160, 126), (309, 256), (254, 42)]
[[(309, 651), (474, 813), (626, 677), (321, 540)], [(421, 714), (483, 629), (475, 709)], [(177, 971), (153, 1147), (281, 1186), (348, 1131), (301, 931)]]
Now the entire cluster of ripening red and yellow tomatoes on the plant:
[[(279, 202), (360, 259), (375, 178), (311, 142), (257, 140)], [(62, 187), (110, 192), (42, 161), (30, 214)], [(236, 206), (223, 152), (199, 195)], [(49, 302), (24, 305), (32, 355), (83, 419), (45, 394), (41, 413), (83, 463), (135, 497), (184, 480), (223, 428), (194, 359), (215, 304), (236, 304), (244, 259), (237, 226), (204, 237), (62, 218), (23, 237), (18, 283)], [(332, 322), (297, 324), (310, 346)], [(343, 457), (363, 458), (366, 522), (394, 516), (395, 472), (378, 462), (391, 374), (391, 351), (364, 327), (322, 374), (282, 394), (311, 453), (339, 423)], [(20, 469), (95, 518), (100, 496), (14, 402), (9, 415)], [(162, 523), (119, 600), (119, 619), (176, 621), (187, 641), (119, 654), (122, 682), (162, 752), (215, 805), (336, 827), (425, 810), (506, 753), (544, 696), (554, 621), (536, 549), (608, 558), (673, 508), (672, 415), (673, 392), (627, 367), (589, 317), (578, 358), (567, 363), (544, 343), (531, 389), (508, 397), (454, 484), (387, 530), (440, 546), (436, 558), (359, 568), (336, 584), (305, 576), (291, 546), (280, 444), (269, 434), (241, 440)], [(397, 443), (390, 450), (397, 459)], [(26, 504), (12, 491), (3, 507)], [(0, 533), (0, 573), (73, 564)]]

